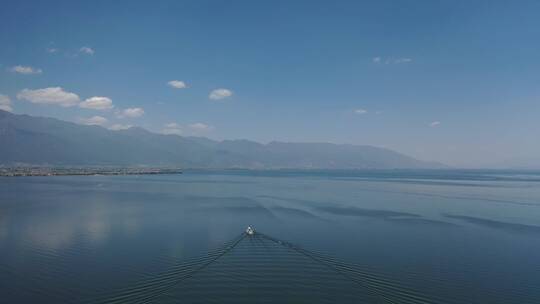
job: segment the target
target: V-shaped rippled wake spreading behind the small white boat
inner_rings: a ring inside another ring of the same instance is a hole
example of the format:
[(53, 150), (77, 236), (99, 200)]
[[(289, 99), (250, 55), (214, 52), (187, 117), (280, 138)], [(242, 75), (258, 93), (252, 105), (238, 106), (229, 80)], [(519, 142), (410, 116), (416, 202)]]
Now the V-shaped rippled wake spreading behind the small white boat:
[(249, 227), (207, 255), (92, 303), (447, 303)]

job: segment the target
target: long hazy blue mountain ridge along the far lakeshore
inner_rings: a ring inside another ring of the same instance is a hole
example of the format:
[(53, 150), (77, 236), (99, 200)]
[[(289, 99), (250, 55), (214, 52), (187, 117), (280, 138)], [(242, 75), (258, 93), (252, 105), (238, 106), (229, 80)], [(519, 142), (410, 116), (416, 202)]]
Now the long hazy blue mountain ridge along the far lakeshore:
[(260, 144), (113, 131), (0, 110), (0, 164), (149, 165), (184, 168), (441, 168), (389, 149), (329, 143)]

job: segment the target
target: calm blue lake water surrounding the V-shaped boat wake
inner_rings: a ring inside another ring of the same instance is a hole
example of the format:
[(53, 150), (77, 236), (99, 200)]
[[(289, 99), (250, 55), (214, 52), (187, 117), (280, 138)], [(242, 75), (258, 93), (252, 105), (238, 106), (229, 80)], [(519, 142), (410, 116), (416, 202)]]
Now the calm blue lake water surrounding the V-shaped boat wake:
[[(418, 303), (540, 303), (540, 172), (517, 171), (0, 178), (0, 302), (90, 303), (141, 282), (174, 283), (164, 274), (223, 248), (248, 225), (354, 264), (373, 284), (421, 295)], [(243, 240), (189, 288), (155, 302), (223, 302), (209, 293), (215, 284), (238, 300), (238, 283), (255, 279), (265, 285), (250, 289), (250, 302), (287, 286), (355, 292), (333, 274), (324, 279), (335, 286), (321, 284), (315, 266), (311, 280), (296, 284), (301, 271), (291, 269), (303, 258), (274, 245)], [(266, 268), (257, 262), (250, 273), (245, 257), (261, 252)], [(323, 300), (336, 298), (309, 303)]]

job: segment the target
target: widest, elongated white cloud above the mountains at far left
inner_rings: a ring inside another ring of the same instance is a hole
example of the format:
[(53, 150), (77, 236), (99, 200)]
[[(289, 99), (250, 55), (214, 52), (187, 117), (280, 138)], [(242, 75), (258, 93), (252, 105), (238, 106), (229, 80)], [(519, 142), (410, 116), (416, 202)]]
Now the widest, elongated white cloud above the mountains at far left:
[(45, 89), (24, 89), (17, 94), (17, 99), (28, 100), (31, 103), (50, 104), (62, 107), (71, 107), (79, 103), (79, 96), (75, 93), (66, 92), (61, 87)]

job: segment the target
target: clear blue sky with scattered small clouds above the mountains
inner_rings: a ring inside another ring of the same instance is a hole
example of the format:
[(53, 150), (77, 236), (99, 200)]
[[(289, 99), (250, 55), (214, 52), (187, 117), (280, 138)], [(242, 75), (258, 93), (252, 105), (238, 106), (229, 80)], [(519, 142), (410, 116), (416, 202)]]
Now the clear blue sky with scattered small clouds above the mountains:
[(540, 1), (0, 1), (0, 109), (540, 167)]

